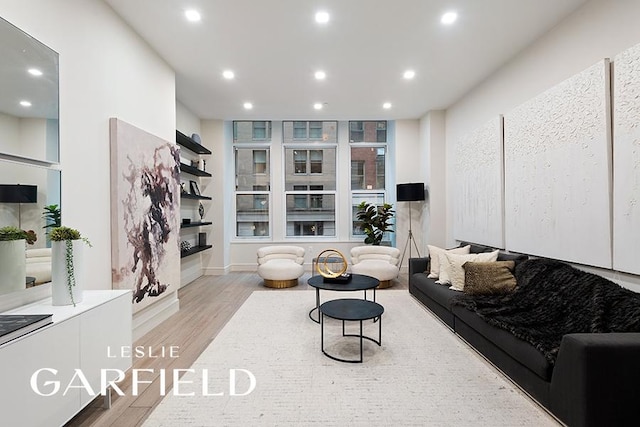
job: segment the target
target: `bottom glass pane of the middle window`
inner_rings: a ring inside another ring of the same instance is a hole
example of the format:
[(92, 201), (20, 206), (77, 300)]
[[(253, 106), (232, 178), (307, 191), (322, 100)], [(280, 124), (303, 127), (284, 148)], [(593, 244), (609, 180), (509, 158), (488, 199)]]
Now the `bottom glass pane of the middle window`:
[(287, 194), (286, 204), (287, 236), (335, 236), (334, 194)]

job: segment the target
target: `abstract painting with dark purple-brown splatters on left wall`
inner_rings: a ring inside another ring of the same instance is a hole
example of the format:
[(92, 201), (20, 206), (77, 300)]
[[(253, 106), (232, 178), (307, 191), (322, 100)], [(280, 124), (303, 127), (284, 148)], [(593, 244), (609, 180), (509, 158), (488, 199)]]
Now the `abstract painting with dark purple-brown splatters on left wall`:
[(111, 272), (134, 311), (180, 283), (179, 150), (118, 119), (111, 135)]

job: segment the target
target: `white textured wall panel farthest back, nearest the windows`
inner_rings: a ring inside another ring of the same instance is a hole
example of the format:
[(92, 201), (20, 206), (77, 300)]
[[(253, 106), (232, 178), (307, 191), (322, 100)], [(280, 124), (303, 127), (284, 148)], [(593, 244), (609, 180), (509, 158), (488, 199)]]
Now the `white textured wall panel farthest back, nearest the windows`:
[(456, 141), (454, 156), (456, 240), (504, 247), (502, 116)]

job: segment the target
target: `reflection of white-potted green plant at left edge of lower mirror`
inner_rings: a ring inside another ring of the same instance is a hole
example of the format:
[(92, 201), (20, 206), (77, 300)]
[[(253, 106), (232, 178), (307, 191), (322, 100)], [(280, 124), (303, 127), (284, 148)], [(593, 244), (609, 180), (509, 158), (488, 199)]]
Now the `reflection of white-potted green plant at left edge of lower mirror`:
[(9, 293), (24, 289), (27, 277), (25, 245), (37, 240), (33, 230), (18, 227), (0, 228), (0, 292)]

